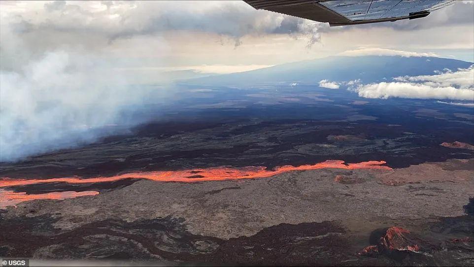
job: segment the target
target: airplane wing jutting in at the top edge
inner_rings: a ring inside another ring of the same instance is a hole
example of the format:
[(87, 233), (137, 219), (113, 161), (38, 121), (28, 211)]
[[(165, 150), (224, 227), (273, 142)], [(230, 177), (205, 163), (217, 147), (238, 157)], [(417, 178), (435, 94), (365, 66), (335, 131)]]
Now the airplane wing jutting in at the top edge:
[(330, 26), (423, 18), (454, 0), (244, 0), (255, 9), (329, 22)]

